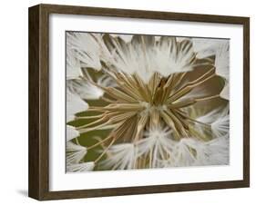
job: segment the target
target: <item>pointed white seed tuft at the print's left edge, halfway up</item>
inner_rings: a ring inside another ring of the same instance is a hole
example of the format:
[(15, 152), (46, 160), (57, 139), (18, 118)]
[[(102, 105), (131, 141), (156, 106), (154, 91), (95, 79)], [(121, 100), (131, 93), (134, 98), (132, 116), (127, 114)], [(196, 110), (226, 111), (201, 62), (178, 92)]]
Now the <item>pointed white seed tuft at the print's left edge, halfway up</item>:
[(67, 122), (75, 120), (77, 112), (87, 111), (88, 104), (83, 101), (76, 93), (71, 93), (67, 89)]

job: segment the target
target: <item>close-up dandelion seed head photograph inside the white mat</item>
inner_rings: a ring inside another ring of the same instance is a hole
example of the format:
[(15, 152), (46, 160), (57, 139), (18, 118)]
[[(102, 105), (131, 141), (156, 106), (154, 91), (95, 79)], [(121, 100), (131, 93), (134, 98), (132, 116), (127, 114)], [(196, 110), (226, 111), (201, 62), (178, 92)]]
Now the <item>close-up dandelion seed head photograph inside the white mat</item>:
[(229, 82), (229, 38), (66, 31), (66, 172), (229, 165)]

